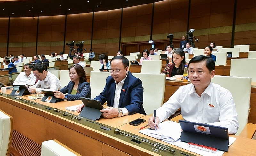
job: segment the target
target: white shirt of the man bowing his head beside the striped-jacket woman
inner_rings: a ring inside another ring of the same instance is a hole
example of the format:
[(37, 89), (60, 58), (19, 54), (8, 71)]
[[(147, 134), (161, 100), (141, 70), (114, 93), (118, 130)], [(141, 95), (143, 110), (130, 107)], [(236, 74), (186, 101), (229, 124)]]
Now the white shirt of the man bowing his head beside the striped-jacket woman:
[(42, 90), (45, 91), (57, 91), (60, 90), (61, 84), (60, 80), (49, 71), (47, 72), (47, 76), (43, 81), (37, 81), (36, 85), (32, 86), (33, 88), (36, 88), (36, 93), (40, 93)]

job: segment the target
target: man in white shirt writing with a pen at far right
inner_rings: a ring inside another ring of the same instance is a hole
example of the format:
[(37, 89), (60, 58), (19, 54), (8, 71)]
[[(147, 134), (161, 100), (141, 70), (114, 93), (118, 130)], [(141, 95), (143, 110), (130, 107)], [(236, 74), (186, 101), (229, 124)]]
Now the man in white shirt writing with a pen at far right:
[[(188, 63), (188, 75), (191, 84), (181, 86), (164, 105), (150, 117), (148, 124), (151, 128), (177, 109), (181, 109), (184, 120), (227, 127), (229, 134), (236, 134), (238, 119), (232, 94), (220, 85), (211, 82), (215, 75), (215, 63), (208, 56), (196, 56)], [(158, 127), (156, 127), (158, 129)]]

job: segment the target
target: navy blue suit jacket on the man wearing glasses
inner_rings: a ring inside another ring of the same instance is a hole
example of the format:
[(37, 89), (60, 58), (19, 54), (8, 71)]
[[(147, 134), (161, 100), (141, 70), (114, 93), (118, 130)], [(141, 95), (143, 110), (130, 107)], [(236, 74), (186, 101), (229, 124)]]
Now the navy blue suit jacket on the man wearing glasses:
[[(96, 96), (97, 100), (103, 104), (107, 101), (108, 106), (114, 105), (116, 83), (112, 76), (108, 76), (106, 79), (106, 86), (103, 92), (99, 96)], [(143, 87), (140, 79), (134, 77), (132, 73), (128, 71), (127, 77), (124, 81), (122, 91), (120, 94), (118, 108), (126, 108), (129, 111), (129, 115), (140, 113), (145, 114), (143, 104)]]

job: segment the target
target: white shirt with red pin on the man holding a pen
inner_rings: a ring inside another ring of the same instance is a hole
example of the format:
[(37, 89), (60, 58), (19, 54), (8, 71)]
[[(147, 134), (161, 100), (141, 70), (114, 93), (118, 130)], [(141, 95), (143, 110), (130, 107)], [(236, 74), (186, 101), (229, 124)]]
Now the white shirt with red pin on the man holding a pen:
[(227, 127), (229, 134), (235, 134), (239, 127), (232, 94), (212, 82), (201, 97), (196, 93), (193, 84), (180, 86), (170, 99), (156, 110), (156, 116), (162, 122), (179, 108), (182, 117), (187, 121)]

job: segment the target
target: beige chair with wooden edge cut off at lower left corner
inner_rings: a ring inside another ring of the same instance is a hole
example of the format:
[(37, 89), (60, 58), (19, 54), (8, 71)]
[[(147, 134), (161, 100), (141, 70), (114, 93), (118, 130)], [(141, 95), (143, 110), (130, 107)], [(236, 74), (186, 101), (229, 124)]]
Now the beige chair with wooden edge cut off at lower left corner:
[(0, 109), (0, 155), (9, 156), (12, 142), (12, 116)]

